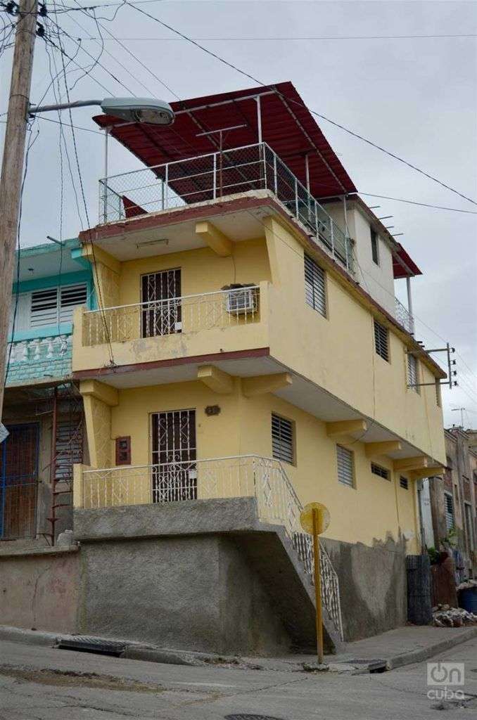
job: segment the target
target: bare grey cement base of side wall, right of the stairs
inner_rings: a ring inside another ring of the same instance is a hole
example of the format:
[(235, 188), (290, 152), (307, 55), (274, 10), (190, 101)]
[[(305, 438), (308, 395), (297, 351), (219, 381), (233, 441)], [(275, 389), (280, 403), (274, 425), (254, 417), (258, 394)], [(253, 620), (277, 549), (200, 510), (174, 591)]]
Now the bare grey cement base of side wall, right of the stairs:
[(323, 539), (339, 576), (344, 639), (360, 640), (406, 624), (405, 542), (374, 546)]

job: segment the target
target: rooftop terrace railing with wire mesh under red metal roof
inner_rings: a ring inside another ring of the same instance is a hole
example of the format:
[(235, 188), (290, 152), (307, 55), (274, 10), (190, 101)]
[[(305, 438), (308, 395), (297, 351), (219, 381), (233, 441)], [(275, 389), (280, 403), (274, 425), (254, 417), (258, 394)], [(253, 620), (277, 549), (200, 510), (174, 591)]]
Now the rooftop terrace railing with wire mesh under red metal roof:
[(271, 190), (290, 215), (352, 272), (352, 240), (267, 143), (104, 178), (99, 181), (99, 222), (260, 189)]

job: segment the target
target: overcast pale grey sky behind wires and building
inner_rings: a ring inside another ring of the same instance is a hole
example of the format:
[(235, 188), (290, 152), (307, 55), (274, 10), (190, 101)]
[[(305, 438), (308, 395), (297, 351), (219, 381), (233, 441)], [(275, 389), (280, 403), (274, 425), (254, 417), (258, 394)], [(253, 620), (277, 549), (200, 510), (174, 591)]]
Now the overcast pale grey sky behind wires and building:
[[(98, 16), (112, 18), (116, 0), (102, 0)], [(56, 7), (62, 4), (57, 0)], [(65, 0), (68, 7), (78, 6)], [(88, 2), (91, 5), (92, 1)], [(81, 1), (85, 6), (86, 2)], [(194, 38), (265, 84), (291, 80), (308, 107), (346, 125), (391, 150), (468, 197), (477, 198), (477, 4), (471, 2), (383, 1), (145, 1), (137, 8)], [(100, 47), (94, 21), (83, 12), (51, 14), (81, 48), (63, 36), (66, 52), (81, 66), (96, 57)], [(128, 92), (166, 100), (187, 98), (253, 86), (254, 83), (172, 32), (138, 9), (122, 7), (112, 21), (101, 21), (158, 79), (128, 52), (104, 35), (104, 53), (89, 75), (74, 63), (68, 84), (79, 78), (71, 99), (102, 98)], [(79, 23), (79, 24), (78, 24)], [(79, 27), (79, 26), (82, 27)], [(51, 30), (51, 27), (50, 27)], [(441, 37), (375, 37), (434, 35)], [(442, 37), (473, 35), (474, 37)], [(363, 39), (362, 36), (366, 36)], [(371, 39), (368, 36), (373, 36)], [(291, 38), (300, 38), (291, 40)], [(303, 38), (319, 37), (318, 40)], [(210, 38), (220, 38), (212, 40)], [(252, 38), (252, 39), (249, 39)], [(267, 39), (264, 38), (278, 38)], [(326, 38), (326, 39), (324, 39)], [(336, 39), (340, 38), (340, 39)], [(58, 42), (53, 37), (55, 42)], [(58, 69), (61, 59), (53, 50)], [(111, 54), (108, 54), (111, 53)], [(11, 54), (0, 60), (0, 76), (7, 78)], [(128, 68), (132, 76), (121, 66)], [(54, 66), (52, 66), (54, 69)], [(107, 68), (107, 71), (104, 69)], [(94, 81), (94, 79), (96, 81)], [(50, 83), (45, 41), (35, 49), (32, 102), (39, 102)], [(99, 86), (102, 84), (104, 88)], [(0, 113), (7, 103), (6, 83), (0, 88)], [(171, 92), (173, 91), (173, 92)], [(174, 93), (174, 94), (173, 94)], [(55, 102), (48, 91), (45, 100)], [(74, 111), (76, 125), (94, 130), (92, 109)], [(47, 117), (57, 120), (58, 116)], [(4, 118), (3, 118), (4, 120)], [(64, 116), (64, 120), (68, 117)], [(393, 158), (322, 120), (321, 129), (338, 153), (357, 188), (363, 193), (411, 199), (476, 211), (476, 205), (419, 175)], [(73, 237), (81, 228), (66, 158), (63, 157), (63, 222), (60, 222), (59, 126), (39, 120), (40, 129), (30, 151), (24, 189), (21, 244), (45, 242), (46, 235)], [(0, 125), (3, 135), (4, 124)], [(75, 176), (71, 135), (66, 140)], [(103, 176), (101, 135), (76, 132), (89, 220), (97, 222), (97, 181)], [(110, 174), (138, 166), (114, 141)], [(413, 281), (416, 337), (428, 347), (450, 341), (458, 351), (461, 389), (443, 388), (445, 424), (477, 426), (477, 249), (476, 215), (432, 210), (411, 204), (362, 196), (379, 204), (378, 214), (393, 215), (393, 233), (424, 272)], [(81, 204), (81, 197), (79, 199)], [(86, 225), (84, 212), (82, 222)], [(396, 283), (401, 297), (402, 288)], [(443, 359), (443, 358), (442, 358)]]

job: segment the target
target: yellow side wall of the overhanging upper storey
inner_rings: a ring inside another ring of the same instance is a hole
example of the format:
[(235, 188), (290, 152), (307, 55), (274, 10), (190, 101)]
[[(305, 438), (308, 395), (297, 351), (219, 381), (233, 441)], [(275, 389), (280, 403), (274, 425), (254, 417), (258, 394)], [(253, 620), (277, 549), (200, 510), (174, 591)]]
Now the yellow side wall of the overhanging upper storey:
[[(375, 352), (373, 315), (326, 274), (327, 317), (305, 302), (303, 248), (272, 221), (267, 241), (286, 274), (269, 286), (270, 354), (411, 444), (445, 462), (435, 387), (409, 390), (405, 346), (389, 333), (391, 361)], [(421, 382), (434, 376), (419, 362)]]

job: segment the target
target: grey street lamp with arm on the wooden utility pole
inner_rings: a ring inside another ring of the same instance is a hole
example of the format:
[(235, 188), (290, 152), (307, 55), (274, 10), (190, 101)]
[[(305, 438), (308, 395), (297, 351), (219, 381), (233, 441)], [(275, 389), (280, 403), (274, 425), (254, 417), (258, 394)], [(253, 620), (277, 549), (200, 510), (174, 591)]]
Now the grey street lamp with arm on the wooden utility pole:
[(99, 105), (107, 115), (114, 115), (128, 122), (146, 122), (148, 125), (172, 125), (174, 122), (171, 106), (164, 100), (151, 97), (106, 97), (104, 100), (78, 100), (60, 105), (30, 105), (28, 114), (32, 116), (38, 112), (88, 105)]

